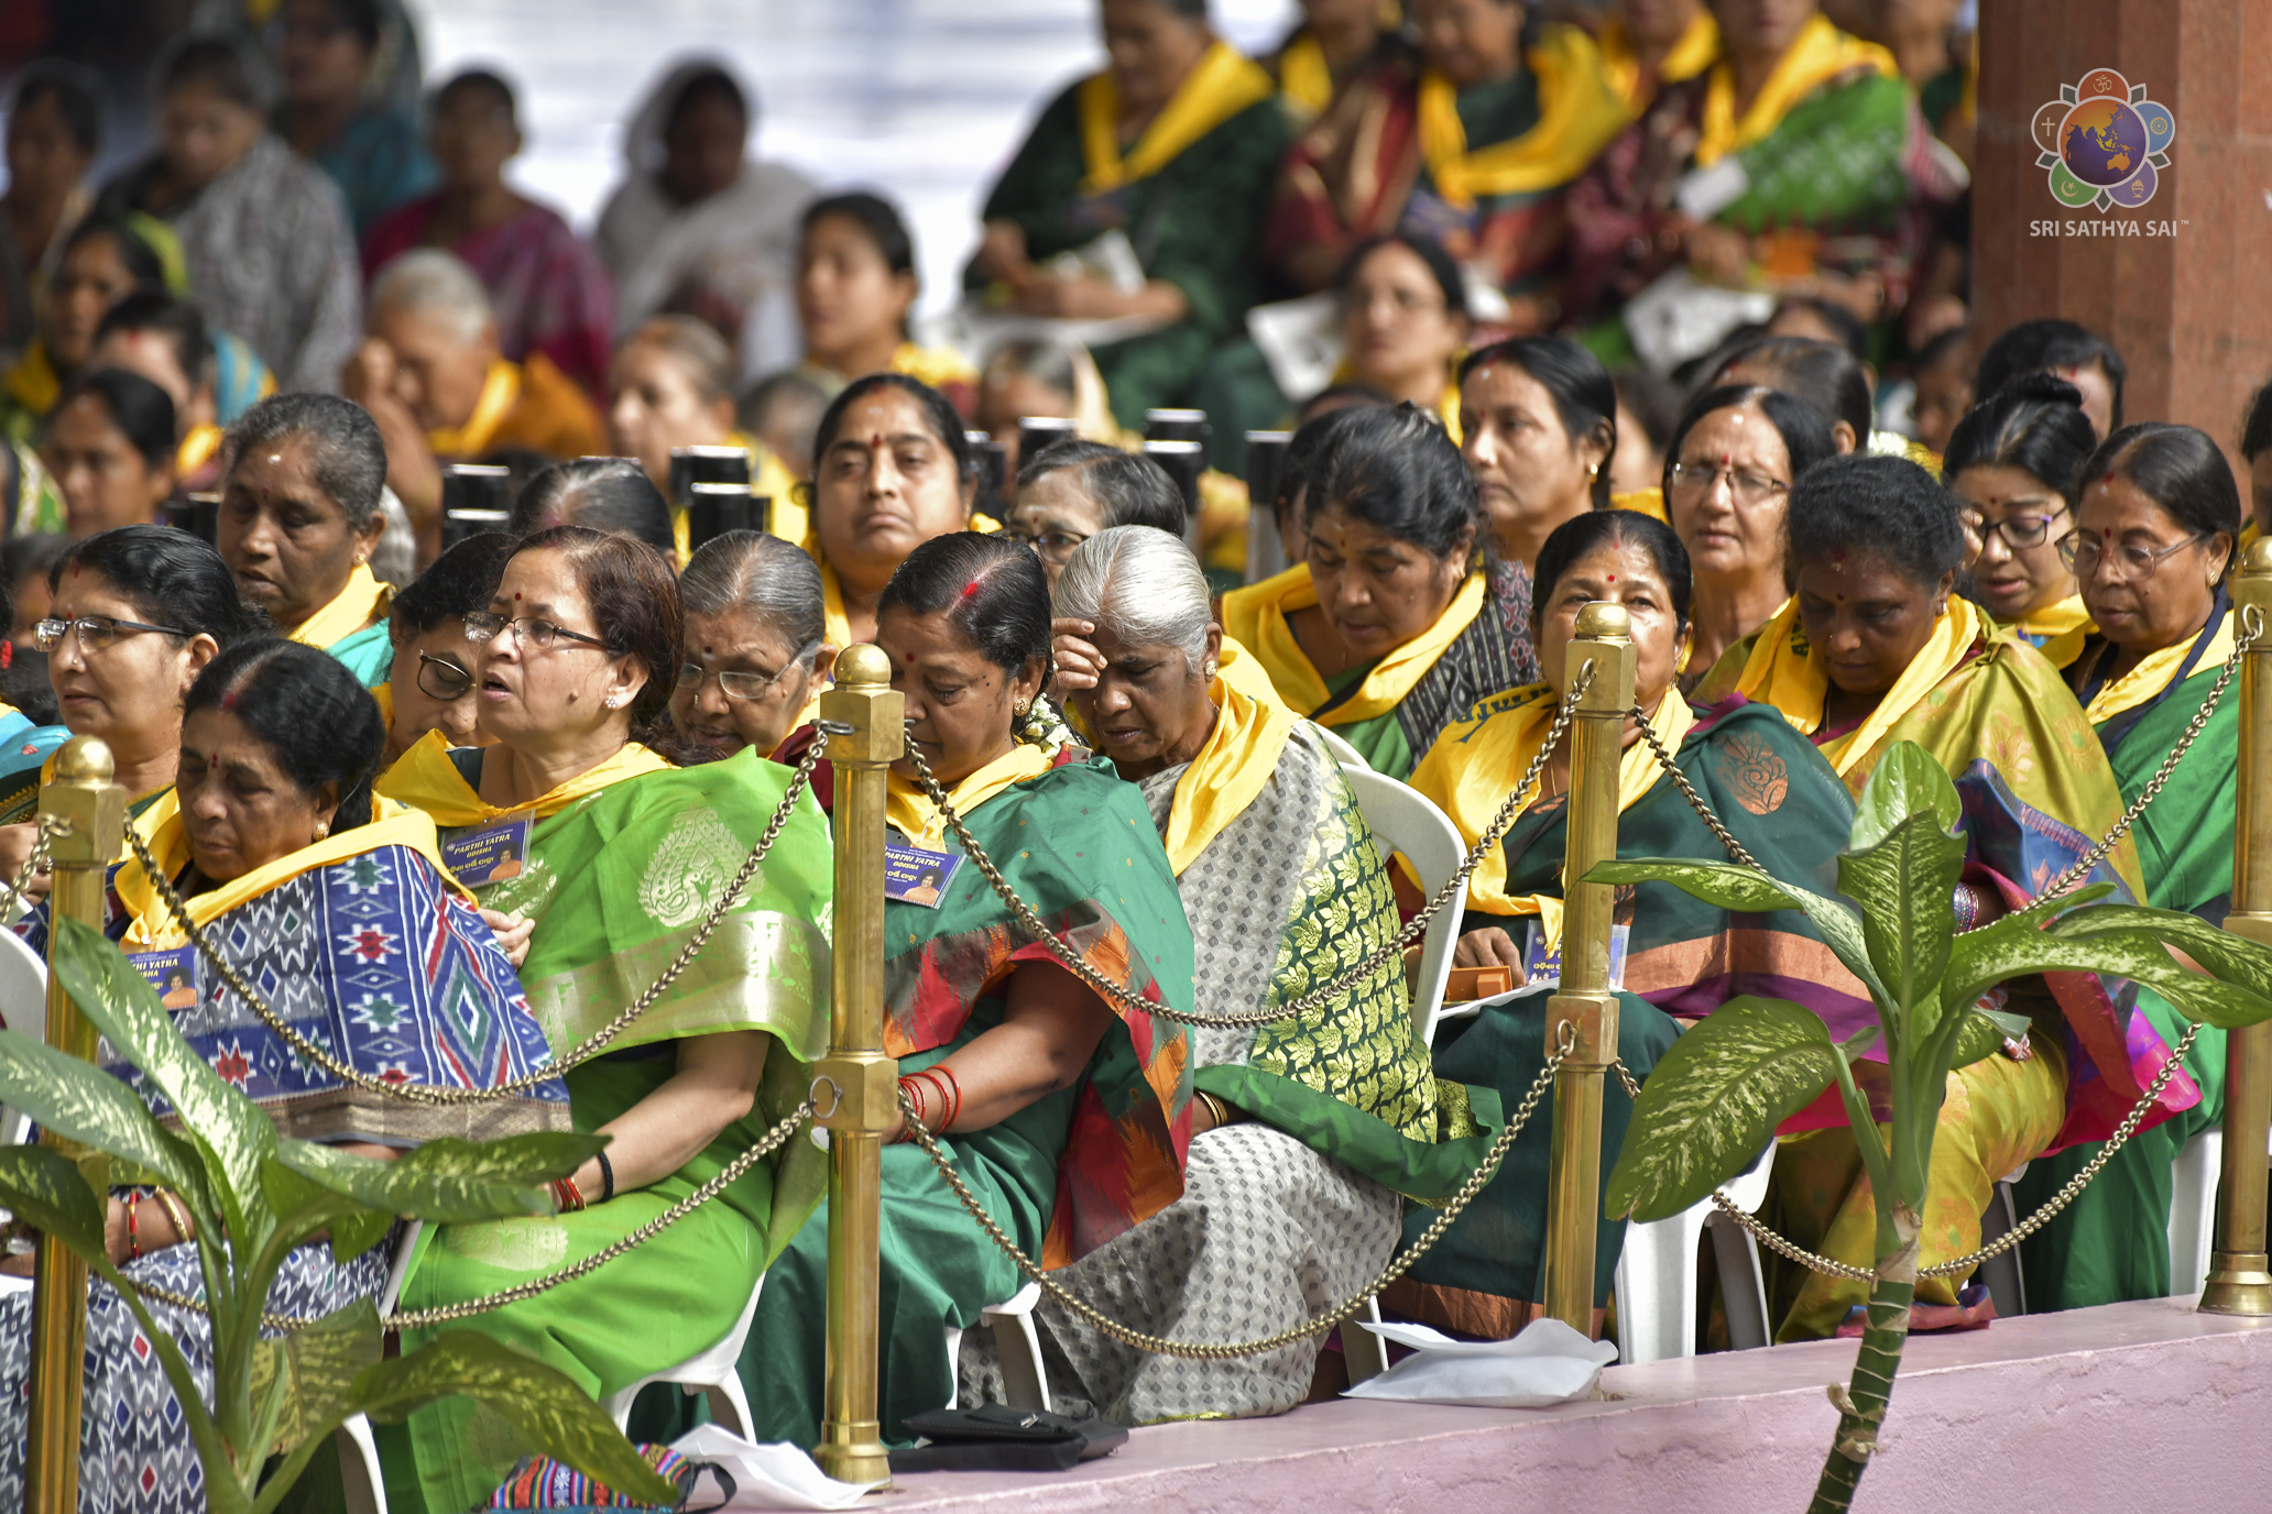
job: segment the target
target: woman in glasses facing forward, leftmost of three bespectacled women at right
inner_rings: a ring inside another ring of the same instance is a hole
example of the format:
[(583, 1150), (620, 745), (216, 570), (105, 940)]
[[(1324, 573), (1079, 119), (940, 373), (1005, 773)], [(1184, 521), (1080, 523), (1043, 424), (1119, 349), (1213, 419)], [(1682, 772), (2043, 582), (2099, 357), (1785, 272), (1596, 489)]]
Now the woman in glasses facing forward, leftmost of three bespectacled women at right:
[(1695, 688), (1720, 656), (1774, 620), (1784, 583), (1784, 520), (1790, 488), (1831, 456), (1822, 415), (1759, 386), (1724, 384), (1697, 395), (1665, 445), (1663, 499), (1695, 574), (1681, 688)]

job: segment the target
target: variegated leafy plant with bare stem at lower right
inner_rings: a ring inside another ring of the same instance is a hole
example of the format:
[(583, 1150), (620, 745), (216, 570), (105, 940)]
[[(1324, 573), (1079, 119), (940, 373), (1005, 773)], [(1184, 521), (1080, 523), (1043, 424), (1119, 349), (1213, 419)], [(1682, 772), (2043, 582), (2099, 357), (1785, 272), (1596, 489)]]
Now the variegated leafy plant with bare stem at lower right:
[[(1590, 883), (1672, 883), (1724, 910), (1799, 910), (1877, 1006), (1877, 1024), (1845, 1042), (1788, 999), (1747, 994), (1706, 1015), (1643, 1085), (1606, 1192), (1611, 1217), (1677, 1214), (1743, 1171), (1784, 1119), (1838, 1085), (1877, 1203), (1877, 1246), (1868, 1326), (1852, 1385), (1834, 1394), (1838, 1430), (1811, 1514), (1849, 1509), (1877, 1450), (1908, 1337), (1918, 1228), (1949, 1071), (2027, 1033), (2022, 1017), (1993, 1012), (1981, 996), (2008, 978), (2093, 972), (2152, 987), (2183, 1017), (2211, 1026), (2272, 1019), (2272, 951), (2195, 915), (2097, 903), (2113, 892), (2106, 883), (1958, 935), (1949, 899), (1965, 842), (1956, 819), (1956, 788), (1940, 763), (1913, 742), (1895, 742), (1863, 788), (1849, 844), (1838, 853), (1843, 899), (1727, 863), (1636, 858), (1586, 874)], [(1886, 1128), (1854, 1080), (1854, 1060), (1879, 1042), (1893, 1112)]]

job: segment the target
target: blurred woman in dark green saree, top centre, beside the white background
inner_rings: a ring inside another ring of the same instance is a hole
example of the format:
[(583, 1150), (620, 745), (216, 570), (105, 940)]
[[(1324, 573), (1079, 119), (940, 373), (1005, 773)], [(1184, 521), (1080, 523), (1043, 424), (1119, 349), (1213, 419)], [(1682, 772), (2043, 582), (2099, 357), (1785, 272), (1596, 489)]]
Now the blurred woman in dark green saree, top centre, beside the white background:
[[(1111, 64), (1043, 107), (986, 197), (963, 284), (1025, 316), (1152, 322), (1095, 352), (1134, 431), (1191, 393), (1256, 297), (1286, 116), (1270, 75), (1209, 27), (1206, 0), (1116, 0), (1100, 18)], [(1127, 261), (1136, 291), (1102, 272)]]

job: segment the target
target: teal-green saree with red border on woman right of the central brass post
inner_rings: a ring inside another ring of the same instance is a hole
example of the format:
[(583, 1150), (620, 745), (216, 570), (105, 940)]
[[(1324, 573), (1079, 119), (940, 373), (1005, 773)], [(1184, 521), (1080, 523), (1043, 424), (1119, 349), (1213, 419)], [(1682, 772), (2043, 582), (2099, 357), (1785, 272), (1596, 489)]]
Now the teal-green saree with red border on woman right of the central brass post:
[[(957, 813), (1018, 897), (1109, 983), (1191, 1012), (1191, 926), (1143, 794), (1109, 763), (1061, 758), (972, 797), (988, 772), (957, 785)], [(957, 849), (952, 835), (943, 849)], [(1022, 937), (968, 860), (936, 908), (886, 901), (884, 1049), (900, 1058), (900, 1071), (941, 1062), (997, 1026), (1004, 985), (1022, 962), (1054, 958)], [(1109, 1008), (1118, 1019), (1072, 1087), (941, 1142), (986, 1212), (1045, 1267), (1086, 1255), (1184, 1192), (1186, 1035), (1168, 1019)], [(922, 1149), (886, 1146), (877, 1398), (886, 1441), (909, 1444), (907, 1416), (954, 1398), (945, 1332), (977, 1323), (982, 1307), (1018, 1287), (1018, 1267), (963, 1212)], [(825, 1321), (822, 1208), (766, 1276), (750, 1326), (741, 1378), (759, 1441), (820, 1441)]]

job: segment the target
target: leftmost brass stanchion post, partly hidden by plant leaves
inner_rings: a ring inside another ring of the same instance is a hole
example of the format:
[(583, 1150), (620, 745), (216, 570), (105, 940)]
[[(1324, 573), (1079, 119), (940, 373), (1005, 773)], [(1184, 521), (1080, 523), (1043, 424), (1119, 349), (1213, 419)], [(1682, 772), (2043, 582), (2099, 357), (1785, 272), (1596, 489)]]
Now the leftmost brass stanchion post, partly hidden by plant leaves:
[[(102, 869), (118, 856), (127, 819), (127, 797), (111, 783), (111, 749), (95, 735), (75, 735), (55, 758), (55, 783), (39, 790), (39, 817), (55, 826), (48, 910), (55, 919), (68, 915), (98, 931)], [(48, 1044), (93, 1062), (95, 1028), (55, 976), (55, 933), (48, 953)], [(52, 1133), (41, 1139), (70, 1158), (86, 1155)], [(86, 1262), (43, 1235), (32, 1258), (32, 1430), (23, 1466), (23, 1507), (30, 1514), (77, 1514), (84, 1355)]]

